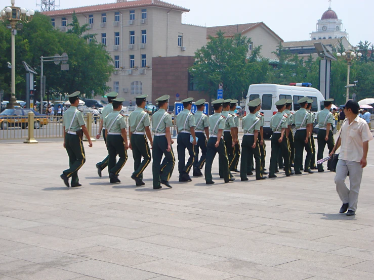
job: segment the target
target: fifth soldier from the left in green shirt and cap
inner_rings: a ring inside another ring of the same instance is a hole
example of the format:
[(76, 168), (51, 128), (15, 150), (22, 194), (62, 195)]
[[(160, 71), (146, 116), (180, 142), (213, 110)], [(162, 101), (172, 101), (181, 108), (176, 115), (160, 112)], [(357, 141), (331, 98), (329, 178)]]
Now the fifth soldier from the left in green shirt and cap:
[[(156, 99), (159, 110), (152, 115), (152, 130), (154, 132), (152, 147), (152, 175), (153, 189), (161, 189), (161, 184), (172, 188), (169, 179), (173, 173), (175, 157), (173, 153), (173, 140), (171, 127), (172, 116), (167, 112), (170, 96), (164, 95)], [(161, 164), (162, 155), (165, 156)], [(160, 174), (161, 173), (161, 174)]]

